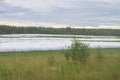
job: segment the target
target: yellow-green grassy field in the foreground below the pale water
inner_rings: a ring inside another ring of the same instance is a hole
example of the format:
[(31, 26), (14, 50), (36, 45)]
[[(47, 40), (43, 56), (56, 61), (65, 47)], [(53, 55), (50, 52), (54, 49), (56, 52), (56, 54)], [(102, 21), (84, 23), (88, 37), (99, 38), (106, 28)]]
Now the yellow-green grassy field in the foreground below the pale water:
[(0, 80), (120, 80), (120, 49), (91, 50), (86, 64), (67, 62), (65, 52), (0, 53)]

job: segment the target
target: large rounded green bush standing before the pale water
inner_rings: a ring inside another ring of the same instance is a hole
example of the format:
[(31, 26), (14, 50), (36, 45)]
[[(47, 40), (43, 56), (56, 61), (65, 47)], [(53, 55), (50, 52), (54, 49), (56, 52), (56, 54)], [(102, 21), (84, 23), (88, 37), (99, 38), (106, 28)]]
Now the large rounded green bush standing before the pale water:
[(74, 62), (80, 62), (85, 64), (89, 57), (89, 46), (74, 39), (69, 50), (65, 54), (66, 59), (69, 61), (70, 58)]

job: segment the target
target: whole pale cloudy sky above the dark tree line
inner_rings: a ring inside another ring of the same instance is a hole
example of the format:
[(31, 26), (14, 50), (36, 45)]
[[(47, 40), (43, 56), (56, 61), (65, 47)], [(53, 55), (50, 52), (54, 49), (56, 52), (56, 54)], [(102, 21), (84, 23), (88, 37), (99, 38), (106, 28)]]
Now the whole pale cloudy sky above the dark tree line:
[(120, 0), (0, 0), (0, 24), (120, 28)]

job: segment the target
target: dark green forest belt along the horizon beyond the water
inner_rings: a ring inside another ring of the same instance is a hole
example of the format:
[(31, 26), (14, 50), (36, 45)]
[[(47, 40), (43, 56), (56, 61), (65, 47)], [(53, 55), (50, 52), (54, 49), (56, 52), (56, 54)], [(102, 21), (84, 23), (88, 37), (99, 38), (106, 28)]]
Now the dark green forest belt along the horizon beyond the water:
[(72, 34), (72, 35), (104, 35), (120, 36), (119, 29), (75, 29), (75, 28), (45, 28), (45, 27), (16, 27), (0, 25), (0, 34)]

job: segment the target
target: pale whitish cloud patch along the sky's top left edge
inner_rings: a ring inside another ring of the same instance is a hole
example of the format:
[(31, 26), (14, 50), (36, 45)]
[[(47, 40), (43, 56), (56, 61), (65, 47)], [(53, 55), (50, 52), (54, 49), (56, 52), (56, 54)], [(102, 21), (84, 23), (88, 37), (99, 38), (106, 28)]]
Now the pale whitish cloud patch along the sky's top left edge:
[[(71, 0), (72, 1), (72, 0)], [(71, 8), (75, 4), (70, 0), (5, 0), (4, 3), (39, 12), (49, 12), (55, 8)]]

